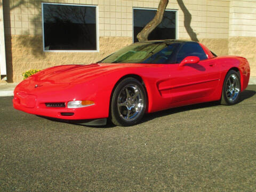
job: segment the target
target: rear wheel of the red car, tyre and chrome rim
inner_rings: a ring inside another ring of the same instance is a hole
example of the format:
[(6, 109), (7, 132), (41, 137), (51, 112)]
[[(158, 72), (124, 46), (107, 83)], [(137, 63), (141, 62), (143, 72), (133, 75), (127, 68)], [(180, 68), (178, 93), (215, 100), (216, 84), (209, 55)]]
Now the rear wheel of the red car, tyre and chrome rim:
[(230, 70), (225, 77), (222, 87), (221, 104), (234, 105), (239, 101), (241, 93), (240, 75), (235, 70)]

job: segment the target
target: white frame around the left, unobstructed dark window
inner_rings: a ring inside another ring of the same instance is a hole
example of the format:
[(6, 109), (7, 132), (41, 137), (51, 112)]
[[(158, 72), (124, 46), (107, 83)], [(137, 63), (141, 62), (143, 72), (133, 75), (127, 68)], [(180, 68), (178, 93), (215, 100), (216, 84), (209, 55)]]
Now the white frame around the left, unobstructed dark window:
[[(45, 50), (44, 49), (44, 9), (43, 9), (43, 5), (44, 4), (52, 4), (52, 5), (70, 5), (70, 6), (91, 6), (91, 7), (95, 7), (95, 20), (96, 20), (96, 46), (97, 46), (97, 50)], [(42, 28), (43, 28), (43, 51), (44, 52), (76, 52), (76, 53), (81, 53), (81, 52), (86, 52), (86, 53), (95, 53), (95, 52), (99, 52), (99, 9), (98, 9), (98, 5), (82, 5), (82, 4), (66, 4), (66, 3), (42, 3)]]

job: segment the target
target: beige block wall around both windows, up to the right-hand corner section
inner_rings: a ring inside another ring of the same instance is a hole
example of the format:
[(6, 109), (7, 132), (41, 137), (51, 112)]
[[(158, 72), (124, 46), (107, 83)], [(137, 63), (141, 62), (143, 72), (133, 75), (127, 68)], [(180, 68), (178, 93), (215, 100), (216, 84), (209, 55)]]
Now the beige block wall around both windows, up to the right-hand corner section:
[[(21, 81), (21, 74), (32, 68), (89, 64), (132, 43), (132, 8), (157, 8), (159, 0), (47, 0), (49, 3), (98, 5), (100, 46), (97, 53), (43, 52), (41, 3), (46, 1), (19, 2), (4, 1), (7, 77), (10, 82)], [(170, 1), (167, 9), (178, 10), (180, 39), (197, 38), (216, 54), (227, 55), (229, 41), (233, 38), (229, 31), (231, 2), (183, 0), (184, 6), (178, 0)]]

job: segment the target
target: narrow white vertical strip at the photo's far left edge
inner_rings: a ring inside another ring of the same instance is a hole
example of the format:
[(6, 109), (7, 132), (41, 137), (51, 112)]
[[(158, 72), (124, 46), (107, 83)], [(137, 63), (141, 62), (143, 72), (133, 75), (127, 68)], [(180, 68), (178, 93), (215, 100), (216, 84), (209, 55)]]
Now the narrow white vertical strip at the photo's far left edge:
[(1, 76), (6, 75), (6, 57), (5, 57), (5, 40), (4, 40), (4, 14), (3, 14), (3, 2), (0, 6), (0, 70)]

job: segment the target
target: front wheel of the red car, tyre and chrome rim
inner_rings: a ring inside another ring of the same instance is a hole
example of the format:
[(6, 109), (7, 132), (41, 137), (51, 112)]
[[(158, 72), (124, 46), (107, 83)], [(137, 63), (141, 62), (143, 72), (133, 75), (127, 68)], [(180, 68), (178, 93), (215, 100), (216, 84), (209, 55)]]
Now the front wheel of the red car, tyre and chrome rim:
[(111, 99), (111, 121), (119, 126), (137, 124), (145, 114), (146, 91), (135, 78), (123, 79), (115, 88)]

